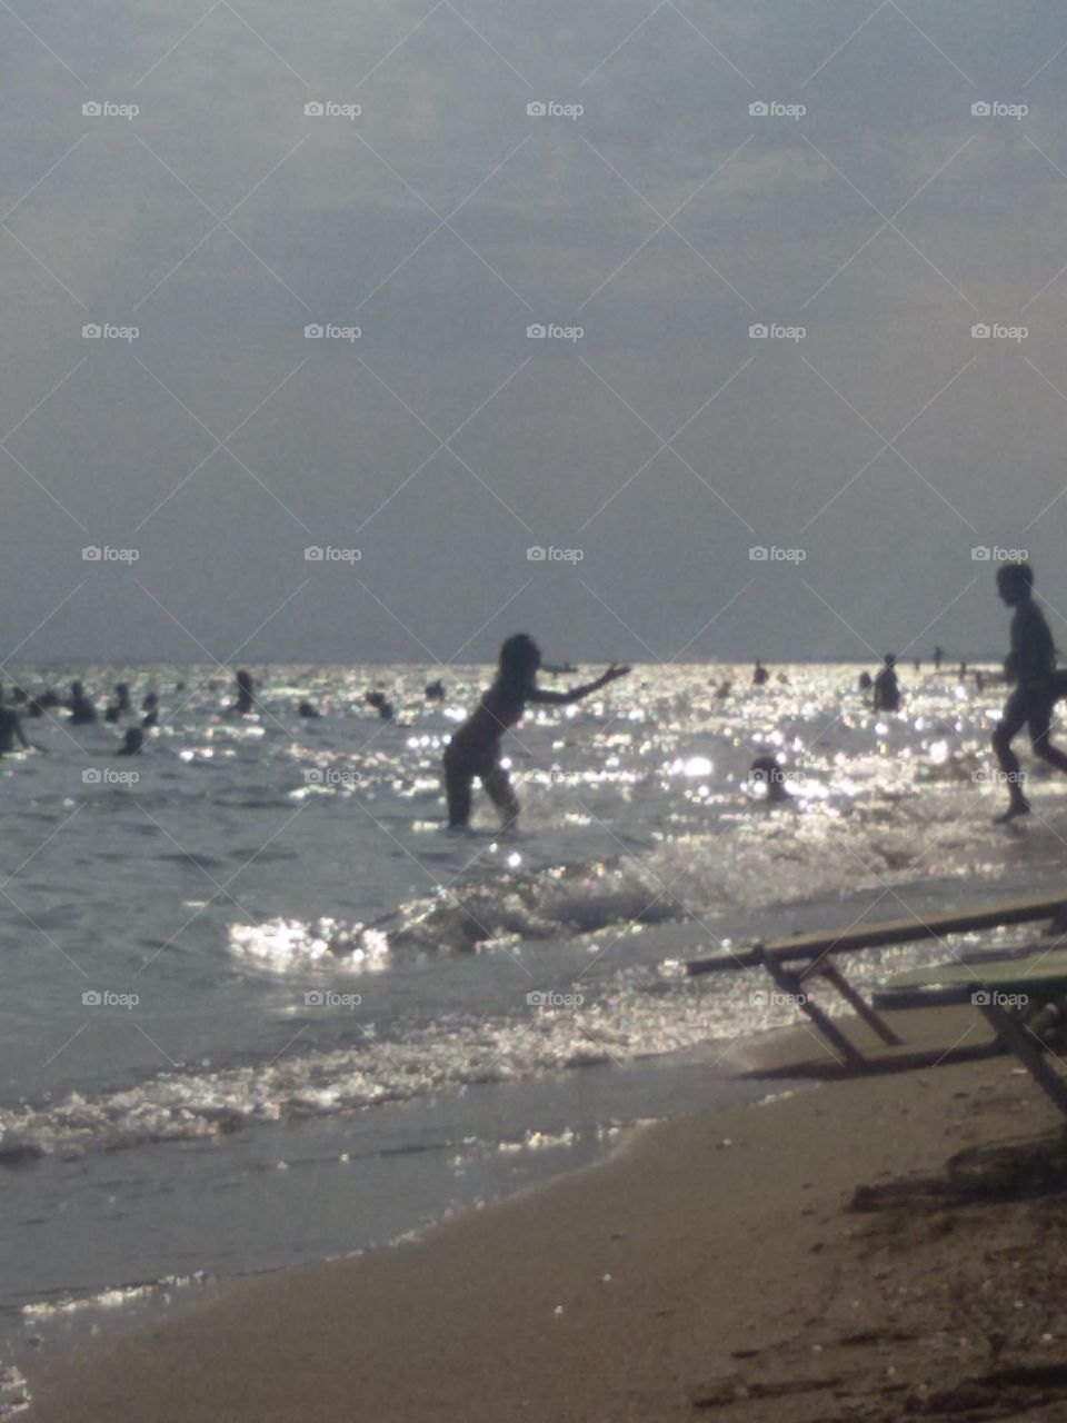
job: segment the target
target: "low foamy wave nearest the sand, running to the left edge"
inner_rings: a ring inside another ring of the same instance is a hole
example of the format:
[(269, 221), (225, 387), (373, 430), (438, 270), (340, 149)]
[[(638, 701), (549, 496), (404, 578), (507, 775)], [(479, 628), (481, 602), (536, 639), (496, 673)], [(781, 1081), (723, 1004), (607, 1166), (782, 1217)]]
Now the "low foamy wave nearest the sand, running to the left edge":
[[(745, 978), (745, 975), (738, 975)], [(677, 1052), (708, 1037), (704, 996), (663, 998), (633, 983), (593, 1000), (569, 995), (565, 1007), (529, 1002), (521, 1016), (450, 1015), (403, 1040), (378, 1040), (373, 1026), (360, 1042), (331, 1052), (289, 1054), (216, 1072), (161, 1073), (137, 1087), (98, 1097), (73, 1093), (47, 1107), (0, 1109), (0, 1165), (41, 1157), (71, 1160), (165, 1141), (221, 1137), (256, 1123), (330, 1116), (432, 1096), (475, 1083), (505, 1083), (639, 1056)], [(734, 1006), (744, 998), (731, 985)], [(745, 990), (747, 992), (747, 990)], [(578, 1002), (573, 1002), (578, 999)]]

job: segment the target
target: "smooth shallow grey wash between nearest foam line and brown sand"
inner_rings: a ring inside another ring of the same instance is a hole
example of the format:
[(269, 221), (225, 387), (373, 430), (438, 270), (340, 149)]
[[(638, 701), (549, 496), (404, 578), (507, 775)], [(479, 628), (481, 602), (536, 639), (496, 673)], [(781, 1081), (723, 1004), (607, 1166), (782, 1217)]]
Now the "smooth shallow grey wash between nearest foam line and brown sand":
[[(754, 1035), (770, 1040), (788, 1029)], [(704, 1106), (757, 1100), (765, 1087), (738, 1072), (748, 1053), (738, 1042), (716, 1062), (726, 1040), (541, 1073), (516, 1081), (448, 1087), (432, 1097), (327, 1113), (285, 1123), (252, 1123), (228, 1138), (151, 1143), (124, 1153), (60, 1155), (6, 1174), (16, 1220), (43, 1214), (34, 1192), (78, 1194), (78, 1218), (51, 1254), (34, 1255), (24, 1231), (3, 1279), (0, 1359), (21, 1355), (14, 1335), (26, 1308), (88, 1302), (129, 1286), (172, 1278), (240, 1278), (383, 1248), (413, 1229), (524, 1191), (605, 1158), (635, 1123), (663, 1120)], [(403, 1150), (396, 1150), (403, 1147)], [(239, 1153), (233, 1175), (226, 1161)], [(108, 1207), (117, 1174), (165, 1190), (181, 1183), (188, 1208), (161, 1215), (158, 1190)], [(213, 1211), (218, 1183), (223, 1210)], [(91, 1208), (81, 1200), (91, 1192)], [(309, 1202), (314, 1211), (307, 1212)], [(80, 1258), (80, 1231), (92, 1249)], [(128, 1242), (128, 1245), (127, 1245)], [(111, 1311), (110, 1311), (111, 1312)], [(132, 1313), (134, 1311), (131, 1311)], [(55, 1333), (46, 1319), (46, 1335)]]

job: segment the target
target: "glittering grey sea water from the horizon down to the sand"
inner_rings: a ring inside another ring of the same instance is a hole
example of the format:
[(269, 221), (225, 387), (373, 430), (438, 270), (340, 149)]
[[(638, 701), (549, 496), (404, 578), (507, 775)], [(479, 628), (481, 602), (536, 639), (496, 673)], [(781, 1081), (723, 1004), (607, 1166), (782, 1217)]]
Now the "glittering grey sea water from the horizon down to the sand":
[[(236, 720), (211, 669), (20, 669), (31, 693), (81, 676), (101, 709), (125, 679), (162, 712), (141, 757), (60, 713), (0, 761), (9, 1325), (388, 1241), (623, 1124), (760, 1094), (745, 1044), (791, 1012), (684, 958), (1060, 888), (1067, 784), (1034, 776), (1037, 814), (992, 825), (1003, 689), (905, 673), (879, 717), (858, 672), (637, 667), (535, 709), (505, 743), (524, 814), (499, 838), (484, 800), (447, 832), (438, 784), (489, 669), (428, 703), (431, 667), (267, 667)], [(394, 721), (367, 714), (373, 684)], [(768, 751), (782, 808), (748, 776)]]

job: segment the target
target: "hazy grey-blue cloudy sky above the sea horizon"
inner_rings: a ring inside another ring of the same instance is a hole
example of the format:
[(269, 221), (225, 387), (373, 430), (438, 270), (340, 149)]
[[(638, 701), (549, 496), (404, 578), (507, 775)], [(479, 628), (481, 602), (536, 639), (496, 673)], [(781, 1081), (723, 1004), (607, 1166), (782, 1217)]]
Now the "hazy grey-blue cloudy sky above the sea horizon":
[[(1067, 647), (1067, 13), (4, 0), (0, 659)], [(987, 334), (986, 334), (987, 333)]]

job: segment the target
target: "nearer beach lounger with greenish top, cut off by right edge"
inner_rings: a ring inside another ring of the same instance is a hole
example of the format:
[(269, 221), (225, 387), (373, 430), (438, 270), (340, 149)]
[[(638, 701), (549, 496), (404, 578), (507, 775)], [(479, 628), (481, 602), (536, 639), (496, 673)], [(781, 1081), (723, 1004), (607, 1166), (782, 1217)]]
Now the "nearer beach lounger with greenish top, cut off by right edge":
[(943, 1007), (973, 1003), (1000, 1042), (1010, 1047), (1034, 1081), (1067, 1114), (1067, 1081), (1043, 1056), (1034, 1019), (1067, 1000), (1067, 951), (1044, 949), (1026, 958), (936, 963), (898, 973), (875, 992), (875, 1006)]

